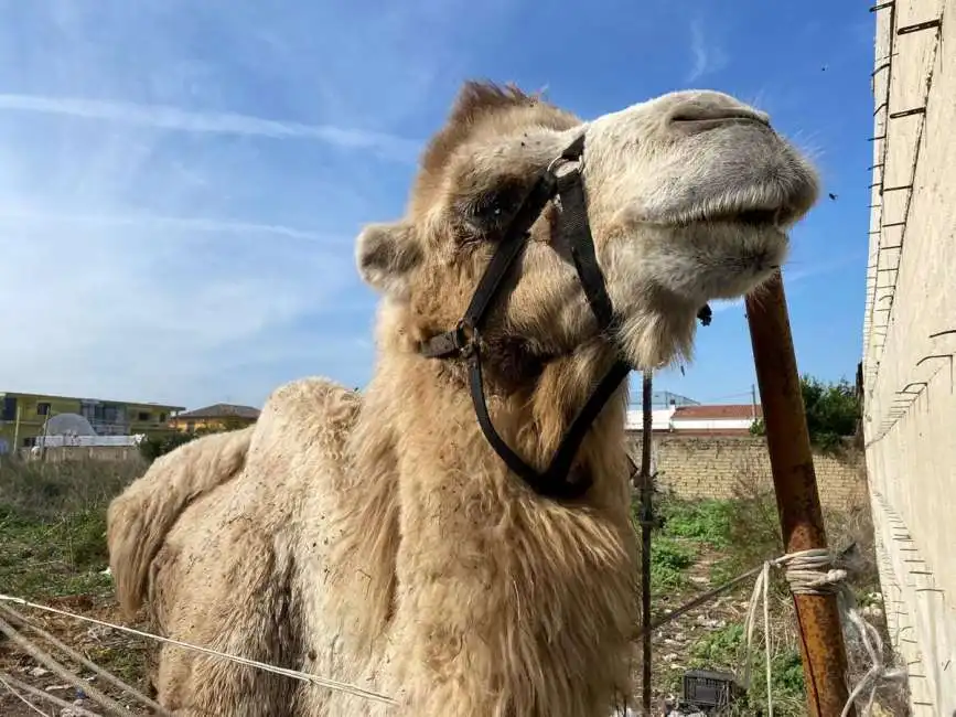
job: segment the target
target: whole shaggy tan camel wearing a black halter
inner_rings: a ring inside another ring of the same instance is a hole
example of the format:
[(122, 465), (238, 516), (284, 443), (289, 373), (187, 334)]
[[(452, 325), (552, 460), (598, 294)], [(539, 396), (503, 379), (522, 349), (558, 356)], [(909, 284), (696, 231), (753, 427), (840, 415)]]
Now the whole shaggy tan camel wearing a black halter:
[(366, 389), (283, 385), (108, 512), (127, 614), (394, 703), (170, 644), (158, 702), (605, 717), (632, 694), (637, 621), (622, 379), (689, 360), (701, 307), (759, 290), (817, 194), (767, 116), (722, 93), (584, 121), (465, 83), (405, 215), (356, 240), (380, 295)]

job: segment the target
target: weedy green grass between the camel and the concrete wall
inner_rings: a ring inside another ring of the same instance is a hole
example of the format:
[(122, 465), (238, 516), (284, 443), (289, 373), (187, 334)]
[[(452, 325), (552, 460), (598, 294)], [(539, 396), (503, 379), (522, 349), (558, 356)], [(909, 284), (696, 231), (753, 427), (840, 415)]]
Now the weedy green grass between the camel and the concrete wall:
[[(784, 553), (780, 518), (773, 490), (762, 477), (744, 471), (738, 481), (734, 497), (727, 501), (686, 501), (674, 496), (656, 499), (658, 527), (652, 533), (651, 584), (654, 596), (676, 593), (683, 602), (698, 593), (689, 579), (701, 571), (699, 558), (717, 556), (709, 567), (710, 589), (745, 572), (763, 560)], [(635, 513), (637, 507), (635, 506)], [(850, 569), (850, 585), (861, 603), (868, 595), (879, 592), (873, 528), (869, 506), (863, 503), (845, 511), (825, 511), (828, 541), (835, 548), (856, 545)], [(796, 616), (786, 582), (778, 572), (771, 578), (771, 666), (774, 714), (803, 715), (805, 689)], [(749, 598), (752, 584), (735, 591), (738, 601)], [(764, 683), (764, 638), (762, 621), (755, 629), (751, 655), (751, 687), (729, 714), (753, 715), (766, 711)], [(889, 643), (889, 640), (884, 641)], [(710, 668), (740, 674), (743, 667), (745, 635), (739, 617), (722, 627), (707, 630), (692, 642), (686, 664), (690, 668)], [(862, 645), (853, 633), (847, 635), (850, 679), (855, 682), (868, 666)], [(888, 655), (888, 660), (891, 656)], [(679, 675), (662, 675), (663, 684), (673, 688)], [(890, 707), (905, 703), (900, 695), (882, 694), (882, 704)], [(896, 707), (899, 708), (899, 707)], [(906, 714), (893, 711), (891, 714)]]

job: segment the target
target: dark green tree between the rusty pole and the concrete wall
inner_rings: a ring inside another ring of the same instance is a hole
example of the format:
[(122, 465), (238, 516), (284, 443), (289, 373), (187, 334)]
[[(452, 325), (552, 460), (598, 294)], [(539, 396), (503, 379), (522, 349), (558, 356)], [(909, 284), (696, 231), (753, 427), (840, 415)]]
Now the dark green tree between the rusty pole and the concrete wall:
[[(823, 451), (834, 451), (842, 439), (857, 432), (861, 406), (855, 386), (848, 381), (826, 383), (805, 375), (801, 378), (801, 394), (807, 417), (810, 443)], [(750, 432), (766, 434), (762, 419), (754, 421)]]

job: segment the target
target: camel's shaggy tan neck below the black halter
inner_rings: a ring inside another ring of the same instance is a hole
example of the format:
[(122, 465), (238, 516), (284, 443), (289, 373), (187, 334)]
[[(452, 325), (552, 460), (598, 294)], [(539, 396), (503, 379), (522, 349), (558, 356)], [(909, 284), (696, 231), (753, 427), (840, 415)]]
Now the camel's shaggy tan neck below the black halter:
[[(394, 361), (383, 370), (400, 406), (395, 629), (433, 673), (432, 687), (412, 695), (428, 703), (416, 714), (444, 714), (432, 699), (455, 715), (535, 717), (568, 705), (578, 705), (568, 717), (605, 714), (602, 700), (626, 681), (633, 625), (622, 396), (581, 447), (593, 488), (582, 505), (566, 506), (508, 474), (466, 386), (433, 362)], [(549, 364), (534, 390), (488, 398), (498, 432), (526, 460), (547, 462), (606, 370), (597, 353), (594, 365), (587, 361)]]

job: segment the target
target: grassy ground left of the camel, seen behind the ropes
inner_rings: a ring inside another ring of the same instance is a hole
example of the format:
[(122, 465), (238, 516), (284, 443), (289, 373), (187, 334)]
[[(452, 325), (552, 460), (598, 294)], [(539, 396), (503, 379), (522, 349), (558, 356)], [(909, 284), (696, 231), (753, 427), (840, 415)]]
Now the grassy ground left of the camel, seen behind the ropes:
[[(108, 565), (106, 507), (143, 470), (146, 463), (138, 458), (24, 462), (4, 457), (0, 462), (0, 592), (119, 621), (112, 582), (103, 575)], [(146, 687), (150, 646), (143, 640), (26, 608), (21, 612), (88, 660), (141, 689)], [(90, 676), (88, 670), (68, 659), (64, 664), (76, 674)], [(30, 671), (35, 666), (31, 657), (0, 636), (0, 672), (40, 689), (52, 688), (60, 697), (82, 697), (73, 688), (64, 689), (63, 681), (54, 675), (34, 676)], [(128, 702), (114, 689), (107, 692)], [(50, 708), (47, 704), (36, 706)], [(133, 709), (130, 714), (143, 713)], [(0, 687), (0, 715), (35, 713)]]

